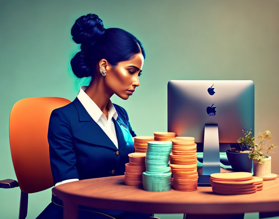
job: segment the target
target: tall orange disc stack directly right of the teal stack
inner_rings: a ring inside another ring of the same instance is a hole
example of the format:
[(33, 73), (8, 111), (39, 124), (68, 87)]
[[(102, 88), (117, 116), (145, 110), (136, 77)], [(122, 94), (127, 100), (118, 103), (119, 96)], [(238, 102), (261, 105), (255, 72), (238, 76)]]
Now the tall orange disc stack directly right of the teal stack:
[(195, 138), (176, 137), (172, 142), (169, 166), (173, 173), (173, 188), (178, 191), (195, 191), (198, 183)]

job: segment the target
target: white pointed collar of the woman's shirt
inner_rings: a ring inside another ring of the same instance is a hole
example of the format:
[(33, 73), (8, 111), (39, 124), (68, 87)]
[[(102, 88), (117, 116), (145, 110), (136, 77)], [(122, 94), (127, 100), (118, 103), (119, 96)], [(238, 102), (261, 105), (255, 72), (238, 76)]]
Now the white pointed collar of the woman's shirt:
[[(97, 121), (101, 118), (103, 112), (102, 110), (96, 105), (96, 103), (84, 92), (87, 86), (80, 86), (77, 98), (84, 106), (88, 114), (92, 117), (92, 119), (97, 123)], [(113, 117), (115, 120), (117, 119), (117, 112), (115, 107), (113, 106), (111, 100), (108, 101), (108, 121), (111, 120)]]

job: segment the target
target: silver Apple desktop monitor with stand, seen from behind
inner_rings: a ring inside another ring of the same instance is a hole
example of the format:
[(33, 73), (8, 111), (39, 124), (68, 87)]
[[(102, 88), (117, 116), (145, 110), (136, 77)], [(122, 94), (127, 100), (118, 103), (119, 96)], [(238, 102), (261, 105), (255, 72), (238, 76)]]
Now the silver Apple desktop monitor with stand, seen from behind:
[(236, 143), (244, 128), (254, 130), (254, 105), (251, 80), (168, 82), (168, 132), (195, 137), (203, 151), (200, 186), (209, 185), (210, 174), (220, 172), (222, 145)]

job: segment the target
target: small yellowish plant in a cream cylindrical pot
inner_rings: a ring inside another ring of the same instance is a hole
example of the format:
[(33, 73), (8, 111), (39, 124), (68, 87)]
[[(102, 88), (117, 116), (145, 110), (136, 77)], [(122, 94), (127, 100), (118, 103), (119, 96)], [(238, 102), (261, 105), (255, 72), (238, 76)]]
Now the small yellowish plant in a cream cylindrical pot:
[[(258, 140), (259, 144), (254, 144), (250, 147), (249, 158), (253, 160), (253, 173), (254, 176), (259, 176), (262, 178), (272, 178), (271, 173), (271, 156), (267, 156), (267, 153), (274, 153), (270, 150), (277, 145), (270, 144), (268, 141), (271, 140), (271, 132), (265, 131), (264, 133), (259, 133)], [(274, 176), (273, 176), (274, 177)]]

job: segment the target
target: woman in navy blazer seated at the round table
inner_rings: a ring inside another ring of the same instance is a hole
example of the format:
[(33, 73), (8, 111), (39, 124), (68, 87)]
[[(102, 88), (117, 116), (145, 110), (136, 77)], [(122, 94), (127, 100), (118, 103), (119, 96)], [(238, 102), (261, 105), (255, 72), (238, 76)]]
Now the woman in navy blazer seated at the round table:
[[(50, 115), (48, 141), (54, 185), (75, 180), (124, 175), (128, 154), (134, 152), (135, 132), (127, 112), (111, 103), (116, 94), (127, 100), (139, 86), (145, 52), (141, 42), (119, 28), (103, 27), (95, 14), (79, 17), (71, 35), (81, 51), (71, 60), (78, 78), (92, 77), (81, 86), (70, 104)], [(145, 218), (151, 214), (88, 209), (79, 218)], [(103, 214), (92, 211), (103, 212)], [(52, 202), (37, 217), (62, 218), (63, 203), (53, 195)]]

